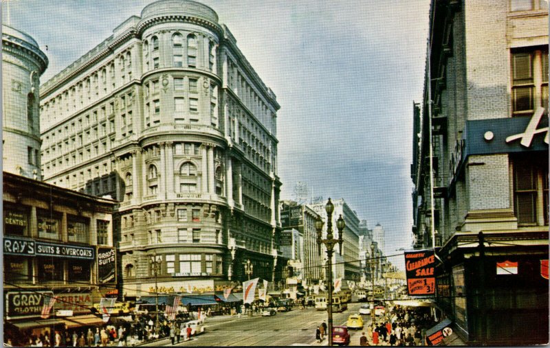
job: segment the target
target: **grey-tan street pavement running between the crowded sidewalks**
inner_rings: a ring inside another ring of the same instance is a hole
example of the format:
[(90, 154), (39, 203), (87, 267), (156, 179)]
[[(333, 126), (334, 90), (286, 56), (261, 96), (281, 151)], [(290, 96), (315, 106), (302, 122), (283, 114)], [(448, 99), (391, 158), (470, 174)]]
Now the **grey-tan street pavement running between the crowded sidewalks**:
[[(358, 313), (362, 303), (349, 303), (348, 310), (333, 314), (333, 325), (345, 325), (351, 314)], [(226, 318), (226, 319), (225, 319)], [(206, 318), (205, 333), (192, 340), (175, 344), (177, 346), (289, 346), (289, 345), (327, 345), (328, 339), (317, 343), (316, 327), (327, 321), (327, 312), (315, 308), (294, 309), (277, 313), (275, 316), (253, 316), (241, 318)], [(370, 316), (363, 316), (365, 325)], [(359, 345), (361, 330), (350, 331), (351, 344)], [(170, 346), (170, 339), (159, 340), (144, 345)]]

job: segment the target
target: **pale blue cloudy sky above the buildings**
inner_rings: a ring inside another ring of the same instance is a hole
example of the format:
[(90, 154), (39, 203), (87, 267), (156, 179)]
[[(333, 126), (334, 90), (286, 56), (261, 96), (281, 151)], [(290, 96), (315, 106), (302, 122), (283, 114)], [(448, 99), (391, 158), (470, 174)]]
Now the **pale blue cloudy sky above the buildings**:
[[(43, 83), (151, 2), (7, 0), (2, 20), (47, 55)], [(306, 183), (310, 196), (344, 198), (369, 228), (381, 224), (386, 255), (410, 248), (412, 105), (422, 97), (430, 1), (199, 2), (217, 12), (281, 104), (281, 199)]]

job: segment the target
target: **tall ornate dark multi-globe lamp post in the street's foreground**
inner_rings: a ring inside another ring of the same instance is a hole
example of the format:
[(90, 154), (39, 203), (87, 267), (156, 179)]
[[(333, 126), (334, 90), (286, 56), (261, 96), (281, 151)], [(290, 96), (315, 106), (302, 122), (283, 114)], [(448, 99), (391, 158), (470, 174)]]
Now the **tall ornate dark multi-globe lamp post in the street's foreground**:
[(334, 251), (334, 246), (336, 244), (340, 244), (340, 255), (342, 255), (342, 244), (344, 243), (344, 227), (346, 227), (346, 224), (344, 222), (344, 219), (342, 218), (342, 215), (340, 215), (340, 218), (336, 220), (336, 227), (338, 227), (338, 239), (333, 237), (332, 234), (332, 212), (334, 211), (334, 205), (331, 202), (331, 199), (329, 198), (329, 202), (327, 202), (327, 205), (325, 206), (325, 210), (327, 211), (327, 239), (322, 239), (322, 220), (318, 219), (315, 222), (315, 228), (317, 230), (317, 243), (318, 243), (318, 251), (319, 254), (321, 252), (321, 244), (325, 244), (327, 248), (327, 282), (329, 283), (329, 301), (327, 303), (327, 310), (329, 312), (329, 332), (327, 335), (329, 336), (329, 346), (332, 346), (332, 254)]

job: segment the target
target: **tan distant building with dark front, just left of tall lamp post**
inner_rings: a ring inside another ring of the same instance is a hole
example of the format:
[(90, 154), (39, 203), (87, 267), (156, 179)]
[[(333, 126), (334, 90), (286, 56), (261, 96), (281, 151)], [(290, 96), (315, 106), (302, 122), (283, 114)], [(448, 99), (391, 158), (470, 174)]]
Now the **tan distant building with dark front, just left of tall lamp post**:
[(281, 227), (296, 229), (302, 235), (302, 279), (305, 279), (309, 285), (318, 284), (324, 277), (323, 258), (319, 254), (317, 230), (315, 229), (315, 221), (320, 216), (308, 205), (300, 205), (292, 200), (281, 201), (280, 206)]

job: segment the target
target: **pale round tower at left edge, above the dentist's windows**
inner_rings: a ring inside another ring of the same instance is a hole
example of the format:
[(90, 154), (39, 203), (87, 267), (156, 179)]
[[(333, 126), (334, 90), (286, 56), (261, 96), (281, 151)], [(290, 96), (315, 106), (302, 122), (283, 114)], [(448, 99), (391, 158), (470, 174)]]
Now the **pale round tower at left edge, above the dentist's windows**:
[(47, 57), (34, 38), (2, 25), (3, 170), (38, 180), (41, 180), (39, 78), (47, 65)]

